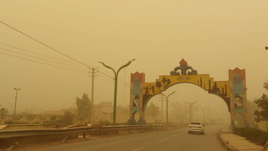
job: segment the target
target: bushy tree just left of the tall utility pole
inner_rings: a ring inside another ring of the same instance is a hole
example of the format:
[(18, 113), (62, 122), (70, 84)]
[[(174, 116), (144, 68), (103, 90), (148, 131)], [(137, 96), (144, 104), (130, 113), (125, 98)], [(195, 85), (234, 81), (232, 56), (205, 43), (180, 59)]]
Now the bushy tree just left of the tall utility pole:
[(76, 97), (77, 113), (81, 119), (90, 117), (91, 101), (86, 93), (83, 94), (82, 98)]

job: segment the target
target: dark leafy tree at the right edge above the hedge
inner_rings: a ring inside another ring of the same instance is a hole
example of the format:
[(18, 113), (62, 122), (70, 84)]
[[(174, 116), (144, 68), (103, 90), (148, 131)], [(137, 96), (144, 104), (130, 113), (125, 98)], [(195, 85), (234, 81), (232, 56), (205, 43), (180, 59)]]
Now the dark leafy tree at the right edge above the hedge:
[[(268, 91), (268, 80), (263, 83), (263, 87)], [(257, 101), (254, 101), (261, 111), (255, 110), (254, 115), (257, 117), (255, 118), (256, 122), (260, 121), (267, 121), (268, 120), (268, 96), (266, 94), (262, 94), (262, 97), (259, 98)]]

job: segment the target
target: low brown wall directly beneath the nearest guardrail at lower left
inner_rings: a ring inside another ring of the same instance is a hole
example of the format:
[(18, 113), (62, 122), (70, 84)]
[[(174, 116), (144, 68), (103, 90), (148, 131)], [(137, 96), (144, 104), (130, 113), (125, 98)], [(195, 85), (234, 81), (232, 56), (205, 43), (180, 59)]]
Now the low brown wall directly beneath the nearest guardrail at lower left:
[(8, 139), (0, 139), (0, 148), (4, 149), (15, 142), (18, 142), (19, 145), (28, 145), (33, 143), (40, 142), (50, 142), (50, 141), (62, 141), (66, 136), (68, 139), (78, 138), (78, 134), (68, 134), (68, 135), (40, 135), (40, 136), (27, 136), (27, 137), (16, 137), (16, 138), (8, 138)]

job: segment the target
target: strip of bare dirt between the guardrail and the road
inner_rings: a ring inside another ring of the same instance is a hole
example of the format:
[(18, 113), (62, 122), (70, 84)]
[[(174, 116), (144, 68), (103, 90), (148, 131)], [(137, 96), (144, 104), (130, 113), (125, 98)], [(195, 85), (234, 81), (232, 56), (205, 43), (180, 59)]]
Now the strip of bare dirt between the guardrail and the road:
[[(170, 128), (168, 128), (167, 130), (169, 130), (169, 129)], [(163, 130), (165, 130), (165, 129), (163, 129)], [(14, 150), (14, 151), (24, 151), (24, 150), (30, 150), (30, 149), (39, 149), (39, 148), (45, 148), (45, 147), (48, 147), (48, 146), (57, 146), (57, 145), (63, 145), (63, 144), (69, 144), (69, 143), (92, 141), (92, 140), (95, 140), (95, 139), (110, 138), (110, 137), (124, 136), (124, 135), (135, 135), (137, 133), (150, 132), (150, 131), (156, 131), (156, 130), (140, 130), (140, 131), (131, 130), (130, 134), (128, 133), (128, 130), (119, 130), (118, 135), (108, 132), (106, 135), (102, 135), (102, 136), (88, 135), (88, 136), (86, 136), (86, 139), (83, 139), (83, 135), (79, 135), (78, 138), (68, 139), (68, 140), (65, 140), (63, 143), (62, 143), (62, 140), (53, 141), (53, 142), (35, 143), (35, 144), (25, 145), (23, 147), (17, 147), (17, 148), (14, 148), (12, 150)], [(0, 151), (4, 151), (4, 149), (0, 149)]]

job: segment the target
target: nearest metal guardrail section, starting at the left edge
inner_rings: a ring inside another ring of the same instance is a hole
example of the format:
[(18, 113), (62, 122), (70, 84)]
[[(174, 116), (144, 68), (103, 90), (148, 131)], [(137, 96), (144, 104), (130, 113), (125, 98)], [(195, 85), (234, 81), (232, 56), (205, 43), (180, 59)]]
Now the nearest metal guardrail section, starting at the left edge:
[(25, 130), (3, 130), (0, 131), (0, 138), (24, 137), (35, 135), (62, 135), (73, 133), (85, 133), (91, 131), (91, 127), (76, 127), (67, 129), (25, 129)]

